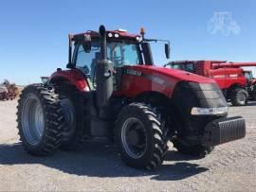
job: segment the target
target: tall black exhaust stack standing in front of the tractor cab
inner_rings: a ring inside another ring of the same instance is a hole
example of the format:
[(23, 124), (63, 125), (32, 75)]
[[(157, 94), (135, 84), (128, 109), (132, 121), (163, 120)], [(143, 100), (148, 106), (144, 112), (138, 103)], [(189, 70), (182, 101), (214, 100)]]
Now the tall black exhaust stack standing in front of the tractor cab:
[(114, 66), (111, 61), (107, 60), (106, 50), (106, 29), (105, 26), (100, 26), (100, 44), (101, 44), (101, 58), (96, 64), (96, 97), (97, 106), (100, 110), (109, 106), (109, 99), (113, 93), (113, 71)]

